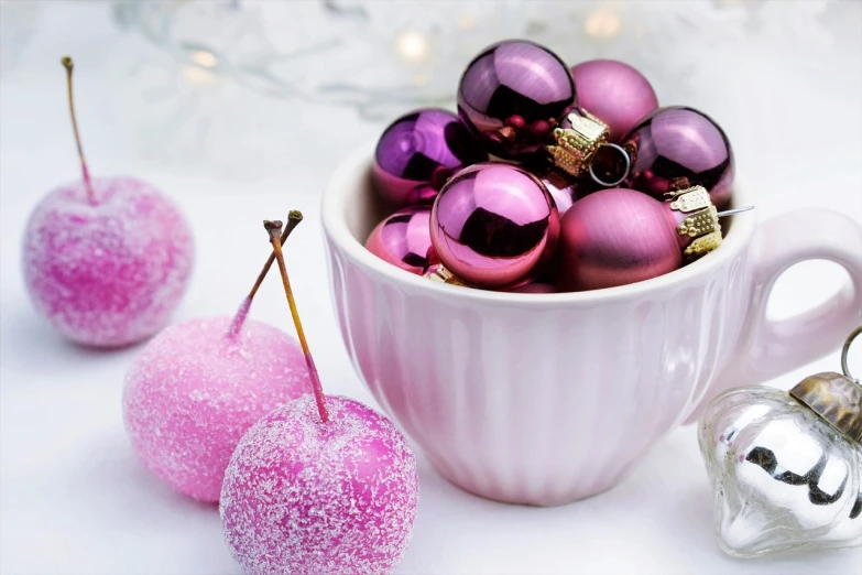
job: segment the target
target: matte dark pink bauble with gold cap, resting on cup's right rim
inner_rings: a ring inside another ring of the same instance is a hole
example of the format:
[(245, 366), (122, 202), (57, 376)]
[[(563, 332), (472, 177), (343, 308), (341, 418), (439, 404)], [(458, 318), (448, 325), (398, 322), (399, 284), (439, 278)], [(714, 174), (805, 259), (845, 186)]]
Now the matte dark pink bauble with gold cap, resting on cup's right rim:
[(561, 291), (640, 282), (679, 268), (721, 245), (719, 214), (700, 186), (658, 202), (634, 189), (596, 192), (576, 202), (560, 221)]

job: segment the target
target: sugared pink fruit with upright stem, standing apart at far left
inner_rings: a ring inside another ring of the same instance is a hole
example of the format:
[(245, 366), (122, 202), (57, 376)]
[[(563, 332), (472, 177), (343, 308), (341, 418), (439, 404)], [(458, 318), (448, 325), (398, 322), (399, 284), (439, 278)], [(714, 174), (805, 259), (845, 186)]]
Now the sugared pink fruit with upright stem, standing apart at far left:
[(91, 180), (80, 150), (81, 182), (39, 203), (26, 227), (24, 281), (36, 308), (78, 344), (119, 347), (167, 323), (188, 283), (194, 241), (177, 207), (130, 177)]

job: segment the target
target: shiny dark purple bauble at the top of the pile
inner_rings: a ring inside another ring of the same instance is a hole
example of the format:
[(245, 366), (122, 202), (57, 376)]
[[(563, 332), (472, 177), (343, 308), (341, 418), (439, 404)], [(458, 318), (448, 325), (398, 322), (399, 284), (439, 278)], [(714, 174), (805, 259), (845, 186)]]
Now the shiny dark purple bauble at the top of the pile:
[(458, 85), (458, 115), (500, 158), (523, 156), (544, 147), (576, 105), (568, 66), (548, 48), (524, 40), (487, 47)]

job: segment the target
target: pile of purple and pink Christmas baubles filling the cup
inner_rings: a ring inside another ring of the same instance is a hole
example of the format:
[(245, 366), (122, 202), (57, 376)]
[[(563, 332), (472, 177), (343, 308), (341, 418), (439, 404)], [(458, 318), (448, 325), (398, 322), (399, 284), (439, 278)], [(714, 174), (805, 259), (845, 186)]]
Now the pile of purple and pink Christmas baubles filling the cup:
[(467, 66), (458, 113), (395, 120), (374, 154), (393, 214), (365, 248), (447, 283), (571, 292), (647, 280), (721, 243), (733, 152), (721, 128), (614, 61), (569, 67), (522, 40)]

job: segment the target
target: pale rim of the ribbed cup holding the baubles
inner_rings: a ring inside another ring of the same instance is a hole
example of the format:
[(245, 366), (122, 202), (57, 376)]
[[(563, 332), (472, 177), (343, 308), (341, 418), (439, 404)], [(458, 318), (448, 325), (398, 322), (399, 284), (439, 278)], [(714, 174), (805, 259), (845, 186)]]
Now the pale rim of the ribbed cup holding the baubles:
[[(664, 275), (615, 288), (583, 292), (517, 293), (449, 285), (443, 282), (429, 281), (426, 278), (401, 270), (383, 261), (368, 251), (364, 245), (348, 228), (345, 217), (345, 200), (356, 191), (356, 183), (360, 180), (360, 174), (361, 181), (365, 181), (364, 176), (373, 161), (375, 148), (377, 142), (369, 142), (354, 150), (338, 165), (327, 182), (320, 202), (324, 232), (352, 262), (368, 272), (373, 272), (384, 278), (390, 283), (465, 302), (517, 304), (520, 307), (528, 308), (570, 307), (644, 297), (657, 292), (674, 290), (686, 284), (689, 280), (709, 275), (714, 269), (725, 264), (743, 246), (750, 242), (756, 225), (756, 209), (738, 214), (733, 217), (732, 231), (722, 241), (719, 249)], [(736, 178), (734, 184), (733, 199), (738, 206), (754, 205), (751, 191), (744, 185), (740, 185), (739, 178)]]

